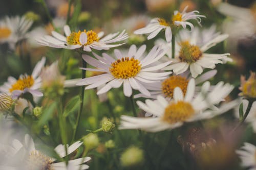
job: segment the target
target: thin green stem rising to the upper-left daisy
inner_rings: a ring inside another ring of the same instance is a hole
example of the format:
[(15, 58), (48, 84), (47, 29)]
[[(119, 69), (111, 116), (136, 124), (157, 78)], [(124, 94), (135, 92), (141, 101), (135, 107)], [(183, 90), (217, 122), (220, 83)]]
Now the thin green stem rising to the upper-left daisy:
[[(82, 56), (82, 54), (81, 54), (81, 56)], [(82, 57), (81, 57), (81, 59), (82, 59)], [(82, 67), (86, 67), (86, 64), (87, 64), (86, 61), (84, 61), (82, 59)], [(82, 69), (82, 79), (84, 79), (84, 78), (86, 78), (86, 70)], [(85, 86), (81, 87), (80, 107), (79, 107), (78, 114), (77, 114), (76, 125), (75, 125), (75, 128), (74, 128), (72, 141), (74, 141), (75, 138), (76, 138), (77, 127), (78, 127), (78, 124), (79, 124), (80, 118), (81, 118), (81, 113), (82, 113), (82, 108), (83, 108), (83, 98), (84, 98), (84, 87)]]

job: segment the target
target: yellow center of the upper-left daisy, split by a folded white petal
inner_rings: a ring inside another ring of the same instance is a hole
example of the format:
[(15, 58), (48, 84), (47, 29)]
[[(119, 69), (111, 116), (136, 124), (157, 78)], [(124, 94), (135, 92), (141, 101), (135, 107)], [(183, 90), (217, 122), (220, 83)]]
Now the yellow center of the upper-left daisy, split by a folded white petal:
[(80, 38), (80, 34), (81, 33), (86, 33), (87, 34), (87, 43), (84, 45), (88, 45), (93, 43), (94, 41), (98, 42), (99, 41), (99, 37), (98, 34), (96, 34), (94, 31), (90, 30), (90, 31), (86, 31), (83, 30), (82, 32), (79, 30), (77, 33), (72, 32), (70, 34), (70, 36), (67, 37), (67, 42), (70, 45), (81, 45), (79, 38)]

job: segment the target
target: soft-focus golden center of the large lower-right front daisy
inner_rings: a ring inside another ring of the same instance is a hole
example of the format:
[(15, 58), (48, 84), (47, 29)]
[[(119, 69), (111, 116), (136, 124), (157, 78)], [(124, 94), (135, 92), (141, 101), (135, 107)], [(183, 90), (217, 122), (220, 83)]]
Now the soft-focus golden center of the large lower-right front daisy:
[(195, 114), (195, 110), (190, 103), (178, 101), (177, 103), (170, 103), (164, 111), (164, 122), (175, 124), (184, 122)]

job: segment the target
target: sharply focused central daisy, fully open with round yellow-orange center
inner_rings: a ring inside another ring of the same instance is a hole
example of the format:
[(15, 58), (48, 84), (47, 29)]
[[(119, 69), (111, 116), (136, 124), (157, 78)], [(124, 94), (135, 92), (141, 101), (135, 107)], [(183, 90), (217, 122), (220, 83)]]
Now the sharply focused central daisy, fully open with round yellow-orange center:
[[(154, 46), (150, 53), (144, 57), (145, 50), (146, 45), (140, 46), (138, 50), (136, 45), (132, 45), (128, 54), (122, 54), (119, 50), (115, 50), (115, 58), (105, 53), (102, 54), (103, 57), (93, 53), (96, 59), (83, 55), (83, 60), (96, 68), (81, 69), (100, 71), (104, 74), (82, 79), (77, 85), (89, 85), (86, 89), (91, 89), (107, 83), (97, 92), (97, 94), (102, 94), (123, 84), (125, 96), (131, 96), (132, 89), (139, 90), (142, 94), (149, 96), (150, 92), (147, 90), (147, 84), (165, 79), (172, 72), (156, 72), (170, 63), (170, 61), (167, 61), (156, 64), (163, 57), (159, 46)], [(142, 82), (146, 84), (142, 85)]]

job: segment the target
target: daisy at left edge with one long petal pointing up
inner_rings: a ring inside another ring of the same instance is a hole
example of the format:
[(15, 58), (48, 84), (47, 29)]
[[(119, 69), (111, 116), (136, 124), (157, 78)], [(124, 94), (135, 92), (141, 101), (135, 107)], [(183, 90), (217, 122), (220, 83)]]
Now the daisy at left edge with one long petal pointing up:
[(43, 57), (35, 66), (32, 75), (20, 75), (16, 80), (14, 77), (8, 77), (8, 82), (0, 86), (0, 92), (12, 94), (13, 98), (18, 98), (23, 93), (29, 92), (33, 96), (42, 96), (38, 89), (41, 87), (41, 78), (39, 74), (44, 67), (46, 58)]

